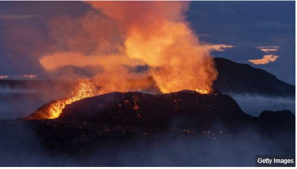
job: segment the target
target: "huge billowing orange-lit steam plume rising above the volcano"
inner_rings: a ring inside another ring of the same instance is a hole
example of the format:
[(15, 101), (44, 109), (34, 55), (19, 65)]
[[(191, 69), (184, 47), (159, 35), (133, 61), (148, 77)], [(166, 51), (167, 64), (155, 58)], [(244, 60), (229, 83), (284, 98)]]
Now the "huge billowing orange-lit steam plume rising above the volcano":
[[(211, 89), (217, 76), (211, 48), (199, 42), (185, 21), (187, 2), (86, 3), (94, 10), (81, 18), (51, 21), (56, 45), (40, 59), (45, 70), (100, 67), (94, 79), (102, 92), (141, 90), (150, 83), (165, 93)], [(136, 66), (149, 69), (131, 71)], [(66, 72), (66, 77), (72, 73)], [(153, 80), (142, 81), (145, 77)]]

